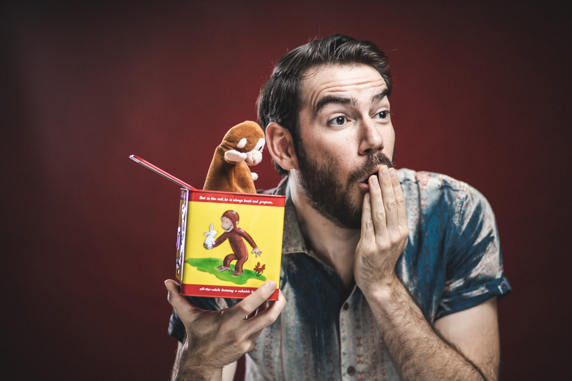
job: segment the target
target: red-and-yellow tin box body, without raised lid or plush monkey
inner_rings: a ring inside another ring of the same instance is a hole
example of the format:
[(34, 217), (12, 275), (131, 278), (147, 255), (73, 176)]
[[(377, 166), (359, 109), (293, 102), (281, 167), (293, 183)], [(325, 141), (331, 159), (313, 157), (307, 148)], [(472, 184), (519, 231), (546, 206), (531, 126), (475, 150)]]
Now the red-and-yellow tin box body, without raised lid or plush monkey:
[(267, 280), (278, 287), (284, 196), (182, 193), (177, 277), (183, 295), (243, 298)]

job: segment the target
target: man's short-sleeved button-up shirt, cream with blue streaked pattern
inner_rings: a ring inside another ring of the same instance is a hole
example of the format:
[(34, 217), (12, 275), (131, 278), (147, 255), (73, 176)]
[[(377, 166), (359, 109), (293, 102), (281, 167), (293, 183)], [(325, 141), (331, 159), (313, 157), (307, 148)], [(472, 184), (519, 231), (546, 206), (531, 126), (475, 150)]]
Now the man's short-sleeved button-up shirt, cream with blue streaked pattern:
[[(487, 200), (462, 181), (430, 172), (398, 171), (410, 235), (397, 275), (430, 323), (507, 295), (495, 218)], [(287, 178), (264, 193), (286, 195), (280, 289), (287, 300), (246, 356), (245, 379), (400, 380), (366, 298), (355, 283), (344, 289), (335, 271), (305, 248)], [(204, 309), (238, 299), (187, 297)], [(169, 334), (182, 342), (176, 312)]]

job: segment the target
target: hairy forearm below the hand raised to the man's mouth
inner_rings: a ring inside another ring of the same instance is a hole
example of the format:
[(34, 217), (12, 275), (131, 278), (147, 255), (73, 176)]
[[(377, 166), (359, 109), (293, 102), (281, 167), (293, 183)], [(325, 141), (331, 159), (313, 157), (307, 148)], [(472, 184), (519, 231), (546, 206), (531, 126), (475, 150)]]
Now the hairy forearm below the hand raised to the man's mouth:
[(397, 277), (364, 293), (404, 381), (485, 379), (478, 367), (432, 330)]

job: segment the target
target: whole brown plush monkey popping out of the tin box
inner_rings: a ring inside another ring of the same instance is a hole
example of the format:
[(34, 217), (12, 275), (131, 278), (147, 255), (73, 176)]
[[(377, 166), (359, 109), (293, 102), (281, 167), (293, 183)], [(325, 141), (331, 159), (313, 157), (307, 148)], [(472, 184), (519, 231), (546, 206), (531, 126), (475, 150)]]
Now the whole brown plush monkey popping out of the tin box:
[(264, 144), (264, 132), (256, 122), (245, 121), (228, 130), (215, 150), (202, 189), (256, 193), (254, 180), (258, 175), (251, 173), (247, 164), (262, 160)]

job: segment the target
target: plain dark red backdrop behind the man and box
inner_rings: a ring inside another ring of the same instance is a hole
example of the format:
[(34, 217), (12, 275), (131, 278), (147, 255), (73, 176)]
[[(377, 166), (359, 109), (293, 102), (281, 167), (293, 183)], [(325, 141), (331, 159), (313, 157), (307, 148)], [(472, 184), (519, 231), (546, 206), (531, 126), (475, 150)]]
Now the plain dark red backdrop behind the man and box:
[[(2, 11), (2, 379), (168, 378), (178, 187), (128, 156), (202, 186), (273, 63), (334, 32), (390, 56), (397, 165), (492, 204), (503, 378), (569, 368), (569, 6), (46, 4)], [(268, 152), (256, 172), (279, 181)]]

